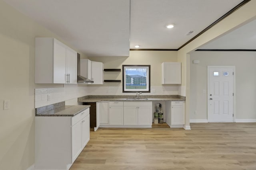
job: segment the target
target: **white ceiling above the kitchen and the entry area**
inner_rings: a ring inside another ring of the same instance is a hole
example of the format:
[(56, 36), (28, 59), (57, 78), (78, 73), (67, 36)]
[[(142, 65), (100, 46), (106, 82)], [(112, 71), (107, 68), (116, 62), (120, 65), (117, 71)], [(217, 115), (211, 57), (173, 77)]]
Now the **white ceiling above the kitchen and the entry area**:
[[(5, 1), (88, 57), (104, 57), (128, 56), (135, 45), (178, 49), (243, 0)], [(174, 28), (167, 29), (170, 23)], [(240, 29), (255, 30), (256, 21), (248, 24)], [(194, 32), (186, 35), (189, 31)], [(245, 39), (252, 45), (250, 38), (237, 29), (200, 49), (252, 48), (234, 43)]]

